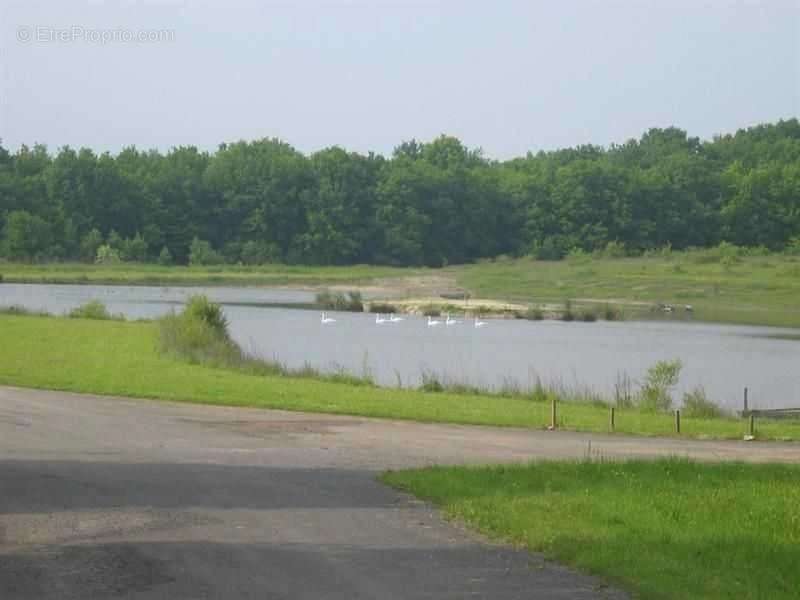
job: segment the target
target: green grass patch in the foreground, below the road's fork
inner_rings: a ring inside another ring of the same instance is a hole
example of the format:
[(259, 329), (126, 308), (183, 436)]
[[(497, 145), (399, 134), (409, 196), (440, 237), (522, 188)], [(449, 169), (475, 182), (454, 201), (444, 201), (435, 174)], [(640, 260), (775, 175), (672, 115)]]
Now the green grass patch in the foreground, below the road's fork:
[(789, 600), (800, 590), (797, 465), (557, 462), (383, 480), (642, 598)]

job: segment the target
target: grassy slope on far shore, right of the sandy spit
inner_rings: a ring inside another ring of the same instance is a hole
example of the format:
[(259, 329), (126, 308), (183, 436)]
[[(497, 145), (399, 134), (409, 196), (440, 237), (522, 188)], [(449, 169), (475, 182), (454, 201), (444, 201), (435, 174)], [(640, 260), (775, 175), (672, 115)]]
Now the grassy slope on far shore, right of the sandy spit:
[(619, 303), (626, 316), (637, 318), (662, 317), (649, 312), (659, 302), (678, 308), (671, 318), (687, 317), (682, 308), (691, 304), (691, 318), (697, 321), (800, 327), (798, 257), (739, 257), (725, 264), (714, 262), (710, 253), (558, 262), (505, 259), (445, 272), (476, 298), (531, 304), (607, 301)]

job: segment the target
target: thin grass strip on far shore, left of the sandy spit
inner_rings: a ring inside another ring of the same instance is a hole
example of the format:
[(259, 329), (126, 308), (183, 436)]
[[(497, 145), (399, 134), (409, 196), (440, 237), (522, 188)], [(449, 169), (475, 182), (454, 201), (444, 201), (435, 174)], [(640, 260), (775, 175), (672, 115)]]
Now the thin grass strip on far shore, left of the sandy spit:
[(308, 267), (293, 265), (181, 267), (121, 263), (21, 264), (0, 263), (8, 283), (94, 283), (121, 285), (339, 285), (410, 276), (422, 269), (354, 265)]

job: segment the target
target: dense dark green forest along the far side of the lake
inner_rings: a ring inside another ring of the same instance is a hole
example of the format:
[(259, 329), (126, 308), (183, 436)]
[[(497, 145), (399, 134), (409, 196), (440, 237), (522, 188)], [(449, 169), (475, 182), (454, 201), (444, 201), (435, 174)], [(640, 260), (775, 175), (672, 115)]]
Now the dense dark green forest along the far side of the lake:
[(277, 139), (116, 155), (0, 144), (0, 258), (442, 266), (498, 255), (800, 249), (800, 122), (709, 141), (487, 159), (454, 137), (391, 157)]

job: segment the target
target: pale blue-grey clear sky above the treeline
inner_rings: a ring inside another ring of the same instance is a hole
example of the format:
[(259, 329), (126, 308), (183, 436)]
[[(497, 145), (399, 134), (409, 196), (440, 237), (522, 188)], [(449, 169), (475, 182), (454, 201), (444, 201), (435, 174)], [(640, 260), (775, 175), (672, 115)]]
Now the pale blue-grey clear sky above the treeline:
[(800, 0), (0, 0), (11, 150), (447, 134), (502, 160), (799, 114)]

